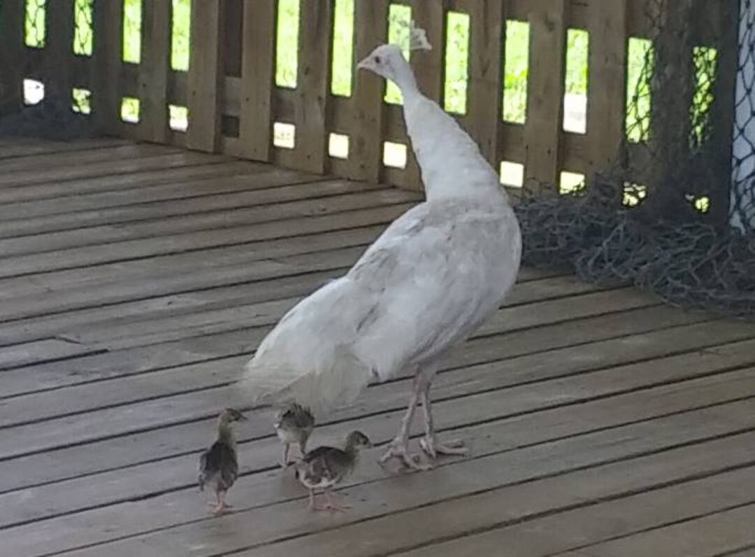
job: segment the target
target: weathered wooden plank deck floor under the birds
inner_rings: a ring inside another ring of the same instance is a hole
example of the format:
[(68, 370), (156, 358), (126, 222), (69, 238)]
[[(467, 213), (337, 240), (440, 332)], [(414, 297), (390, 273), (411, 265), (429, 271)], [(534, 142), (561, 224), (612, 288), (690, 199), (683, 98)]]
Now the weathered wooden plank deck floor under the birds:
[[(468, 456), (408, 474), (375, 447), (354, 508), (313, 515), (257, 410), (211, 518), (198, 453), (242, 364), (417, 196), (116, 140), (3, 140), (0, 169), (3, 555), (755, 554), (755, 326), (532, 269), (433, 385)], [(386, 444), (408, 390), (313, 444)]]

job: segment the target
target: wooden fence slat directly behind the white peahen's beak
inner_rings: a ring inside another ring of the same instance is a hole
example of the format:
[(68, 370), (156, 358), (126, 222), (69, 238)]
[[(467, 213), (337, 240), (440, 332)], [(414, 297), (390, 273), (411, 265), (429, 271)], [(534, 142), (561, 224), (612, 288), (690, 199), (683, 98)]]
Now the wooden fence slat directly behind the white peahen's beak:
[(349, 178), (380, 181), (383, 146), (384, 79), (356, 70), (356, 63), (386, 42), (388, 0), (356, 0), (354, 10), (354, 92), (350, 100)]

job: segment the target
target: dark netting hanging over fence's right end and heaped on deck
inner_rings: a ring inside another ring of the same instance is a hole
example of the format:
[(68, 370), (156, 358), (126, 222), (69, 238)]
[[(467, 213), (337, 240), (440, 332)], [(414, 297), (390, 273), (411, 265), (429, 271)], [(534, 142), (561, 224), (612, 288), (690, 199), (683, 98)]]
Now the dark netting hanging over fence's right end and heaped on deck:
[(649, 0), (618, 162), (588, 187), (523, 196), (526, 264), (755, 317), (755, 0), (721, 4), (714, 26), (702, 2)]

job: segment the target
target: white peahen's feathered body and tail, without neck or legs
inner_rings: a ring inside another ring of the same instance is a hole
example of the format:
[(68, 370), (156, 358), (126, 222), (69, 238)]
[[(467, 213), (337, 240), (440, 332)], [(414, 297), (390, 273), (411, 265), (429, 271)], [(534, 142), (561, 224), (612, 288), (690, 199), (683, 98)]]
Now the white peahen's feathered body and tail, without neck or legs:
[(372, 377), (388, 379), (466, 338), (510, 288), (520, 249), (502, 200), (417, 206), (345, 277), (283, 317), (242, 384), (255, 398), (318, 410), (348, 404)]

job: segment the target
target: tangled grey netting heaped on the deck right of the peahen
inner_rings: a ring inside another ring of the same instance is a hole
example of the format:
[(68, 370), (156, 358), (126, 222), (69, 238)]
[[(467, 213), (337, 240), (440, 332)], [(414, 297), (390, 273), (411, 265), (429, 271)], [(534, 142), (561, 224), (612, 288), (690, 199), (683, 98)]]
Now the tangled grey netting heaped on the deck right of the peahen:
[(755, 234), (705, 222), (651, 223), (619, 206), (623, 188), (527, 195), (517, 206), (526, 265), (569, 265), (593, 283), (634, 284), (665, 302), (755, 318)]

